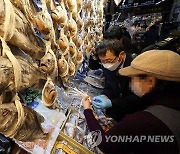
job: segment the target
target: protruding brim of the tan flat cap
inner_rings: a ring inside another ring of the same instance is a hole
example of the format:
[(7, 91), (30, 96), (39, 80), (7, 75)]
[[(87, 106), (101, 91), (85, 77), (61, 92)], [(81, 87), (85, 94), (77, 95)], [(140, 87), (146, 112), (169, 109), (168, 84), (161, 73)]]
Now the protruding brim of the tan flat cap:
[(135, 75), (139, 75), (139, 74), (147, 74), (147, 72), (137, 70), (131, 66), (128, 66), (128, 67), (120, 69), (119, 74), (123, 75), (123, 76), (135, 76)]

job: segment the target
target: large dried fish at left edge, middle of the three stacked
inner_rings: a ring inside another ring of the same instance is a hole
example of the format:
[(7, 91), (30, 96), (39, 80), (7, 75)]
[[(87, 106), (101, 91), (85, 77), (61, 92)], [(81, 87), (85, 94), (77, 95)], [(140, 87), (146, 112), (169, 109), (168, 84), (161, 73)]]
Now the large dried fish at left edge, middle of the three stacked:
[[(21, 81), (18, 91), (28, 87), (38, 87), (41, 79), (46, 80), (46, 75), (34, 67), (27, 60), (16, 56), (21, 67)], [(0, 92), (15, 91), (14, 69), (9, 59), (0, 57)]]

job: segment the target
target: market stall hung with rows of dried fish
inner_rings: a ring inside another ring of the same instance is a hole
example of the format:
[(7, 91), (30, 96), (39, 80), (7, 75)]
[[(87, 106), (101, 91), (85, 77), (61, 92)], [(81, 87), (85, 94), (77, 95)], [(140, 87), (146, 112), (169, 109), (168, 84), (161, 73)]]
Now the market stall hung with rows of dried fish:
[[(105, 3), (0, 0), (0, 133), (27, 152), (99, 153), (81, 100), (100, 94), (103, 78), (77, 76), (103, 38)], [(113, 125), (94, 113), (105, 130)]]

